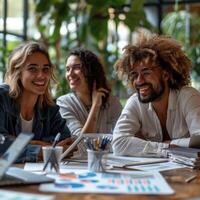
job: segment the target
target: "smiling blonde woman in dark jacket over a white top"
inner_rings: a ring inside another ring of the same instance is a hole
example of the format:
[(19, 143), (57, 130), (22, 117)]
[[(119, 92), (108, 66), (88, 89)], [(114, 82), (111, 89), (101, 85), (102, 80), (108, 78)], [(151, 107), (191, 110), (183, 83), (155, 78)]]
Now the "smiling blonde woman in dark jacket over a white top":
[(34, 133), (20, 161), (36, 161), (40, 147), (50, 145), (58, 132), (59, 145), (70, 142), (70, 131), (50, 94), (53, 69), (47, 50), (37, 42), (20, 45), (9, 57), (5, 83), (0, 85), (0, 133), (5, 145), (20, 132)]

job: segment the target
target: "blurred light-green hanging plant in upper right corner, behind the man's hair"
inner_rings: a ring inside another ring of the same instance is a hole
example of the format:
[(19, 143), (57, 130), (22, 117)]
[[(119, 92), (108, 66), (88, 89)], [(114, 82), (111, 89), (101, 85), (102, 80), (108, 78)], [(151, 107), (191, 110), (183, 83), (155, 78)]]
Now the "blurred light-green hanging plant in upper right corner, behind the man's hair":
[(200, 19), (197, 13), (179, 9), (175, 4), (173, 12), (162, 21), (163, 32), (179, 40), (192, 60), (191, 76), (194, 82), (200, 81)]

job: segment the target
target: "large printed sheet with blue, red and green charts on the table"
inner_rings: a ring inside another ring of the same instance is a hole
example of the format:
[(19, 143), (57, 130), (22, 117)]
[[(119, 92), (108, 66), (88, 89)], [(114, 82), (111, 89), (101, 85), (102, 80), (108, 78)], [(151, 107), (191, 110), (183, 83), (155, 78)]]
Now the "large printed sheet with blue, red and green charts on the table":
[(43, 192), (170, 195), (174, 191), (158, 172), (118, 171), (95, 173), (66, 170), (53, 184), (41, 184)]

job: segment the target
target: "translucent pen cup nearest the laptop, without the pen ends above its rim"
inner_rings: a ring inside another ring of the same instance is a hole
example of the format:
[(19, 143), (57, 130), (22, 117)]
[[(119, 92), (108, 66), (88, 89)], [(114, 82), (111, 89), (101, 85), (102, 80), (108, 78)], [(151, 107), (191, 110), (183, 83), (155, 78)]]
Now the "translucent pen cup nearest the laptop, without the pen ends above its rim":
[(54, 148), (52, 146), (42, 147), (44, 165), (48, 162), (46, 171), (55, 170), (56, 172), (59, 172), (62, 152), (62, 146), (56, 146)]

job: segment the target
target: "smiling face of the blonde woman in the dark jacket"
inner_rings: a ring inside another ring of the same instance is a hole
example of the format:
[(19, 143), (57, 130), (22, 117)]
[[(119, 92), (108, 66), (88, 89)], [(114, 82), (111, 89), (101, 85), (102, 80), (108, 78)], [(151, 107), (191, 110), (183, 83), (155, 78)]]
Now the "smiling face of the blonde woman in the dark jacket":
[(43, 95), (51, 77), (51, 66), (47, 57), (35, 52), (27, 57), (21, 71), (23, 95)]

